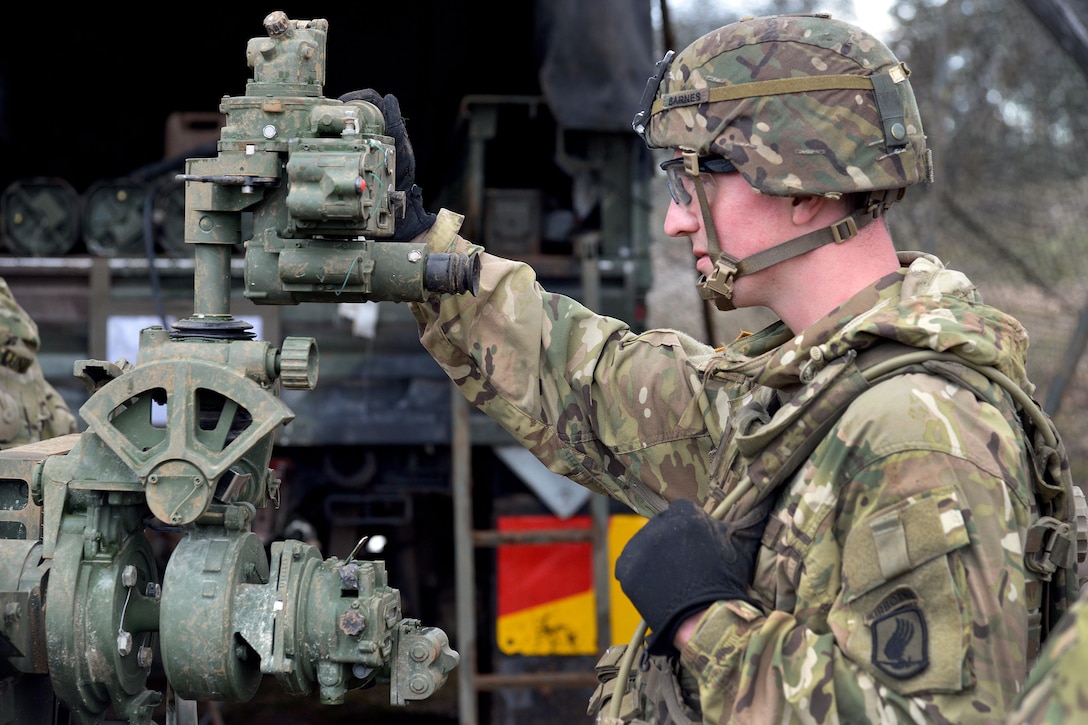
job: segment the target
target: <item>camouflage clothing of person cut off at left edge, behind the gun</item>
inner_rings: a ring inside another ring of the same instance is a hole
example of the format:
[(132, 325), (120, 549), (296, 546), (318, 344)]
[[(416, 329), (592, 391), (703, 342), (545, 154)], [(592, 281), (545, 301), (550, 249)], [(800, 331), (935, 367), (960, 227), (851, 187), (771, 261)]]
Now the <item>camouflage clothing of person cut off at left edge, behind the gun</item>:
[(38, 325), (0, 279), (0, 448), (77, 432), (38, 364)]

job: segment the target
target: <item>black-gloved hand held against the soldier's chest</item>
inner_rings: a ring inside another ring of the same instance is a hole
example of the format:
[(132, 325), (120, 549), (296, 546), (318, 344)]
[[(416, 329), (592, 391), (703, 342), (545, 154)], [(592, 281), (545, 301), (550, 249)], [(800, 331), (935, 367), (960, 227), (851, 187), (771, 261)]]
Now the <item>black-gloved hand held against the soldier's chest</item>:
[(751, 601), (747, 585), (770, 502), (724, 524), (691, 501), (676, 501), (631, 537), (616, 578), (651, 629), (651, 654), (673, 651), (676, 630), (695, 612), (720, 600)]

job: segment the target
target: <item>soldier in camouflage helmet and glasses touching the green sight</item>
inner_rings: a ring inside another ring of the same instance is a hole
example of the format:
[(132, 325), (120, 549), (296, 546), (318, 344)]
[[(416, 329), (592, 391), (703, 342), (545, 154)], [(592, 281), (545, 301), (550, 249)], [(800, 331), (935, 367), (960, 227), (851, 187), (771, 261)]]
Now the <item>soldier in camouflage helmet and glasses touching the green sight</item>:
[(477, 296), (412, 306), (422, 344), (552, 470), (651, 517), (616, 567), (650, 636), (601, 722), (1004, 722), (1068, 598), (1068, 532), (1036, 525), (1049, 421), (1018, 417), (1027, 333), (886, 225), (931, 170), (907, 76), (827, 15), (745, 19), (658, 63), (633, 126), (672, 150), (665, 231), (706, 298), (780, 318), (720, 348), (635, 334), (461, 238), (399, 169), (396, 98), (345, 97), (398, 142), (397, 236), (482, 255)]

